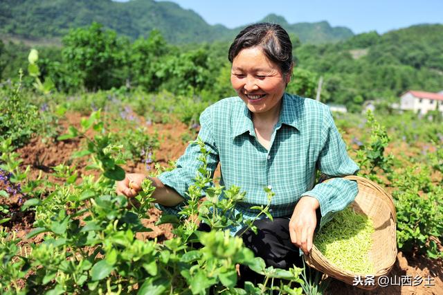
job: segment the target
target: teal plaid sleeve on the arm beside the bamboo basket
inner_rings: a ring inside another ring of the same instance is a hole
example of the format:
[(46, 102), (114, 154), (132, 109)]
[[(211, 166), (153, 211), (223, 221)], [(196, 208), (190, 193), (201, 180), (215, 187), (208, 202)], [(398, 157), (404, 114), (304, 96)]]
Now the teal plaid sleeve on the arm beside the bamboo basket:
[(321, 131), (322, 144), (317, 168), (328, 177), (338, 178), (316, 184), (314, 188), (302, 194), (318, 199), (321, 213), (320, 228), (332, 219), (334, 212), (343, 210), (353, 202), (359, 192), (356, 181), (339, 178), (354, 175), (359, 171), (359, 166), (347, 155), (345, 143), (329, 109), (326, 113)]

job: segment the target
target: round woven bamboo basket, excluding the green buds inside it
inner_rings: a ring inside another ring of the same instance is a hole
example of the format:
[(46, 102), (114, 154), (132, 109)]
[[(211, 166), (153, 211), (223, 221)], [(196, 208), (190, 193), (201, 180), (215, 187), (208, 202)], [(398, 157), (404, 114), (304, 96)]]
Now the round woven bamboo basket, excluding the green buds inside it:
[[(397, 259), (397, 240), (396, 240), (396, 215), (395, 205), (392, 197), (388, 195), (380, 186), (374, 182), (358, 176), (347, 176), (345, 179), (357, 181), (359, 193), (354, 202), (350, 205), (357, 213), (363, 213), (370, 217), (374, 224), (374, 233), (372, 234), (372, 249), (369, 253), (370, 260), (374, 264), (374, 273), (366, 274), (373, 276), (374, 285), (359, 284), (356, 287), (361, 289), (374, 289), (377, 287), (377, 280), (380, 276), (386, 276)], [(341, 269), (332, 264), (316, 248), (315, 242), (305, 260), (309, 267), (341, 280), (347, 284), (354, 285), (356, 276), (361, 276), (365, 282), (367, 276), (355, 274), (352, 271)], [(370, 278), (368, 278), (370, 279)]]

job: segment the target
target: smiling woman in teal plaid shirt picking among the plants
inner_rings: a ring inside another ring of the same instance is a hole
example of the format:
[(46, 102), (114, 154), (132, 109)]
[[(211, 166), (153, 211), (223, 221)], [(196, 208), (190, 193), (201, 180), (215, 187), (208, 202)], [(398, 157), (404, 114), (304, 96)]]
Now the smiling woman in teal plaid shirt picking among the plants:
[[(264, 187), (273, 190), (273, 221), (255, 222), (257, 235), (246, 231), (242, 238), (267, 266), (300, 266), (299, 252), (307, 255), (311, 250), (317, 224), (327, 222), (357, 193), (354, 181), (341, 178), (315, 185), (316, 170), (340, 177), (359, 168), (347, 156), (329, 108), (284, 92), (293, 62), (291, 41), (281, 26), (248, 26), (235, 38), (228, 58), (238, 97), (216, 102), (200, 117), (199, 136), (210, 152), (208, 169), (214, 172), (220, 163), (221, 184), (247, 192), (236, 208), (244, 218), (257, 214), (251, 206), (267, 204)], [(153, 197), (164, 211), (174, 212), (174, 206), (186, 201), (186, 190), (199, 167), (198, 154), (197, 145), (188, 146), (176, 169), (152, 179)], [(127, 175), (118, 183), (117, 193), (134, 197), (144, 178)], [(233, 229), (233, 234), (239, 232)], [(254, 278), (243, 269), (243, 281)]]

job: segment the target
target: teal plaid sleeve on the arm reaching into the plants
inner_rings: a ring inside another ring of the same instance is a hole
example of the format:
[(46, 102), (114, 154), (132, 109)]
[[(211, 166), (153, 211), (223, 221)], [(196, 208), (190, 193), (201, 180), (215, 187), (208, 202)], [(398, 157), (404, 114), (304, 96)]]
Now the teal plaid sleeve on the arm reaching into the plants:
[[(219, 163), (219, 153), (217, 150), (217, 145), (215, 144), (215, 136), (213, 134), (212, 120), (210, 116), (210, 108), (205, 109), (200, 115), (200, 131), (199, 138), (205, 143), (205, 149), (209, 152), (206, 157), (207, 167), (210, 172), (210, 178), (214, 177), (215, 169)], [(159, 175), (160, 181), (165, 185), (173, 188), (181, 195), (185, 200), (189, 199), (187, 194), (188, 188), (195, 183), (195, 177), (197, 175), (198, 169), (201, 166), (201, 161), (199, 161), (199, 156), (201, 155), (200, 147), (197, 143), (190, 143), (186, 147), (186, 151), (177, 160), (177, 168), (172, 171), (163, 172)], [(211, 186), (212, 183), (208, 184)], [(203, 194), (201, 195), (203, 197)], [(185, 201), (186, 202), (186, 201)], [(177, 206), (163, 206), (161, 204), (156, 204), (156, 208), (161, 211), (165, 211), (170, 214), (177, 215), (181, 211), (181, 207), (185, 204), (179, 204)]]

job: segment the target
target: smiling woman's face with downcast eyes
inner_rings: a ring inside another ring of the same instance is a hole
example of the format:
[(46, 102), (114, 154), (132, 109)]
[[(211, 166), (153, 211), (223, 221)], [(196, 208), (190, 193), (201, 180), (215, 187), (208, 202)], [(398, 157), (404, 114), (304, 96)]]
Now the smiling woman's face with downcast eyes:
[(291, 73), (283, 75), (259, 47), (244, 48), (233, 60), (230, 82), (254, 114), (266, 114), (280, 107)]

